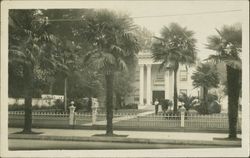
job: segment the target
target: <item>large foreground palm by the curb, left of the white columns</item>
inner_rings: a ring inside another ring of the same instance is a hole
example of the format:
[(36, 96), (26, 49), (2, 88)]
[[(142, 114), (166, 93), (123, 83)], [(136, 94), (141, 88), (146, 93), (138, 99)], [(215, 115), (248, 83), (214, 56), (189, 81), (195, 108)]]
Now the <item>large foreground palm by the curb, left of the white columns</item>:
[(139, 45), (133, 33), (135, 26), (127, 15), (97, 10), (86, 15), (80, 36), (91, 43), (85, 52), (86, 64), (95, 66), (106, 81), (106, 135), (113, 135), (113, 87), (115, 72), (127, 70), (128, 62), (135, 58)]

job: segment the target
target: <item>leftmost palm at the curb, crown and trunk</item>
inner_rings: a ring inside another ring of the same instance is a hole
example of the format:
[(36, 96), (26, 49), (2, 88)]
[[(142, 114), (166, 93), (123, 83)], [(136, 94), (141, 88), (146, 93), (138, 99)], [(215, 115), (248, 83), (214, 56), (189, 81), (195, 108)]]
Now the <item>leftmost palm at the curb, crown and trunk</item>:
[(42, 68), (53, 64), (51, 53), (44, 51), (44, 48), (54, 41), (54, 36), (47, 32), (47, 26), (46, 17), (41, 10), (10, 10), (9, 12), (9, 64), (19, 65), (23, 70), (25, 97), (23, 133), (32, 132), (35, 67)]

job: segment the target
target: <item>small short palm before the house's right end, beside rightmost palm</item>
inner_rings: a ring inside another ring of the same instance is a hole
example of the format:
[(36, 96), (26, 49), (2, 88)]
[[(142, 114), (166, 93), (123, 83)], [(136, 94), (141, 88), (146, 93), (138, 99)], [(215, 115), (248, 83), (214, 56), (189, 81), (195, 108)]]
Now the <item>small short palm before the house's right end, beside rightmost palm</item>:
[(202, 87), (203, 89), (203, 100), (202, 106), (204, 113), (208, 113), (208, 90), (210, 88), (217, 88), (219, 84), (219, 76), (217, 69), (210, 63), (203, 63), (197, 66), (196, 71), (191, 76), (193, 80), (193, 86), (195, 88)]

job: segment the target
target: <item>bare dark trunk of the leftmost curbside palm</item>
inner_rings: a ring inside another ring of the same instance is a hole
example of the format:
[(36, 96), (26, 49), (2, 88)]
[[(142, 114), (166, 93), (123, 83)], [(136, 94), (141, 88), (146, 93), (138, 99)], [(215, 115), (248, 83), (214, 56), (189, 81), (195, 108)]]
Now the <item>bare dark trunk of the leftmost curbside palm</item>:
[(24, 127), (23, 133), (32, 132), (32, 96), (33, 96), (33, 67), (24, 65), (24, 84), (25, 84), (25, 114), (24, 114)]

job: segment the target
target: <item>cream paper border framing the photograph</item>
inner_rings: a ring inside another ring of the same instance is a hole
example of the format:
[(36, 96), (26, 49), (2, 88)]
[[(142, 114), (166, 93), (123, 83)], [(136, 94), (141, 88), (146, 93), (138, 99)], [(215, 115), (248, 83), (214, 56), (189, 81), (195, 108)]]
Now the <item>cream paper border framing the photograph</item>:
[[(104, 3), (105, 2), (105, 3)], [(2, 157), (238, 157), (249, 156), (249, 2), (242, 3), (242, 147), (213, 149), (152, 149), (152, 150), (8, 150), (8, 10), (9, 9), (68, 9), (143, 1), (3, 1), (1, 3), (1, 156)], [(147, 1), (148, 2), (148, 1)], [(151, 1), (150, 1), (151, 2)], [(156, 1), (154, 3), (160, 3)], [(180, 2), (180, 1), (178, 1)], [(192, 2), (192, 1), (191, 1)], [(199, 1), (198, 1), (199, 2)], [(201, 1), (202, 2), (202, 1)], [(133, 3), (133, 4), (132, 4)]]

